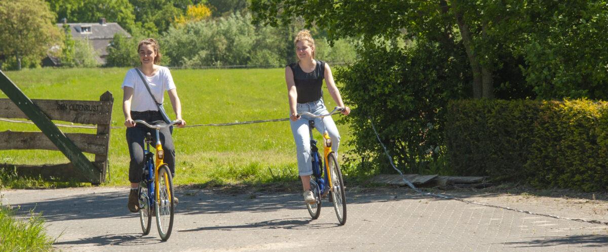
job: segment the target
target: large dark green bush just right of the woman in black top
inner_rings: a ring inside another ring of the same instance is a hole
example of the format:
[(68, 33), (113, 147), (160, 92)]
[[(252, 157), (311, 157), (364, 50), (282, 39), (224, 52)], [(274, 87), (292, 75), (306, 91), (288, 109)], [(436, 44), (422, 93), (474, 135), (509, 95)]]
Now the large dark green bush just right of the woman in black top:
[[(404, 49), (393, 44), (367, 44), (358, 61), (337, 67), (336, 81), (347, 106), (354, 152), (375, 161), (379, 172), (394, 172), (378, 144), (368, 117), (399, 169), (427, 171), (443, 151), (441, 116), (447, 101), (461, 97), (469, 74), (465, 58), (455, 58), (435, 44)], [(437, 166), (434, 166), (437, 167)], [(370, 169), (375, 169), (371, 166)]]

